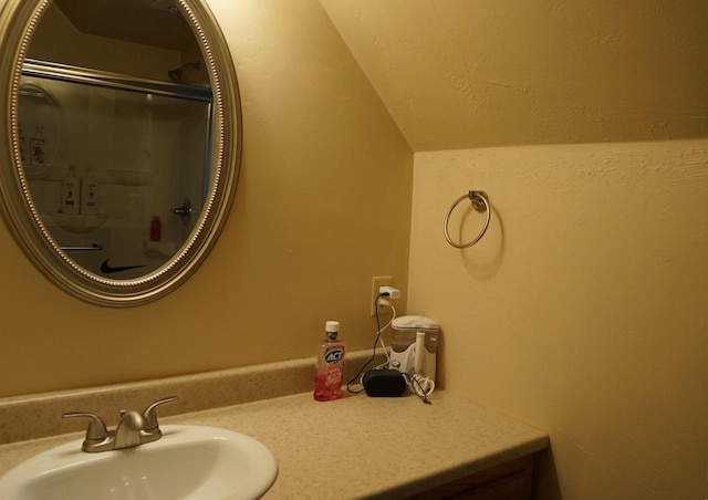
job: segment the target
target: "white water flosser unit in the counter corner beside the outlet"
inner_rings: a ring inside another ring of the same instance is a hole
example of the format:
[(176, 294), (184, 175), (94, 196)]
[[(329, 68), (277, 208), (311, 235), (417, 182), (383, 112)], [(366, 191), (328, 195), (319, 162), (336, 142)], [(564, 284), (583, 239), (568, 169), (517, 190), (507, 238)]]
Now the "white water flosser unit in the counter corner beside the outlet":
[(389, 368), (435, 382), (440, 325), (426, 316), (409, 315), (396, 317), (391, 326), (394, 335)]

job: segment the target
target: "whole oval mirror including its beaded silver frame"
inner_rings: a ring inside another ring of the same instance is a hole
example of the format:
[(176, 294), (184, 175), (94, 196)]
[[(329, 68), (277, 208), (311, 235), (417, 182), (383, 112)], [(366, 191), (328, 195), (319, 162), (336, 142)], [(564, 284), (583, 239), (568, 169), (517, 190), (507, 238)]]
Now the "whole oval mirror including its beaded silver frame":
[(200, 0), (7, 0), (0, 202), (31, 261), (106, 306), (154, 301), (231, 207), (240, 102)]

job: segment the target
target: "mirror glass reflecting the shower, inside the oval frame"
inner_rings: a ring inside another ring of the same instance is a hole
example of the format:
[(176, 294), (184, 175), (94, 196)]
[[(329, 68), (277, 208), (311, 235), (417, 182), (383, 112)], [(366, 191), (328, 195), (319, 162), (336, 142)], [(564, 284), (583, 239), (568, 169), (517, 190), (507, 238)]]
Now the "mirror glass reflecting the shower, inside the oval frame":
[(208, 196), (211, 115), (199, 45), (169, 1), (49, 6), (22, 70), (18, 126), (56, 246), (112, 280), (168, 262)]

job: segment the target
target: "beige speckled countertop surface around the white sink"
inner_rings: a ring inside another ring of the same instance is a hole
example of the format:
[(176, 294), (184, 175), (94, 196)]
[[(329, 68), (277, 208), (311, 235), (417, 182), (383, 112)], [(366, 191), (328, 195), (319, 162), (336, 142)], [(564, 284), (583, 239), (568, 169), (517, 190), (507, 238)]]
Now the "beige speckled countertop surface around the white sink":
[[(445, 390), (321, 403), (299, 393), (160, 418), (252, 436), (278, 460), (267, 499), (405, 498), (548, 447), (545, 433)], [(2, 406), (0, 405), (0, 410)], [(0, 446), (0, 475), (83, 433)], [(149, 446), (149, 445), (146, 445)]]

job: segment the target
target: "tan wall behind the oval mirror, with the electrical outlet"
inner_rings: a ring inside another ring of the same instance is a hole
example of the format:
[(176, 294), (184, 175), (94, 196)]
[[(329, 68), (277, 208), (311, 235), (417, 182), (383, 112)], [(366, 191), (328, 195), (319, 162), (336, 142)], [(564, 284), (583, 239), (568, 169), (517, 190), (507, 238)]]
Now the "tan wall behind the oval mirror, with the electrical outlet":
[(0, 225), (1, 396), (305, 357), (332, 319), (369, 347), (372, 277), (407, 288), (413, 153), (319, 3), (209, 6), (243, 106), (219, 243), (166, 299), (110, 310), (52, 285)]

